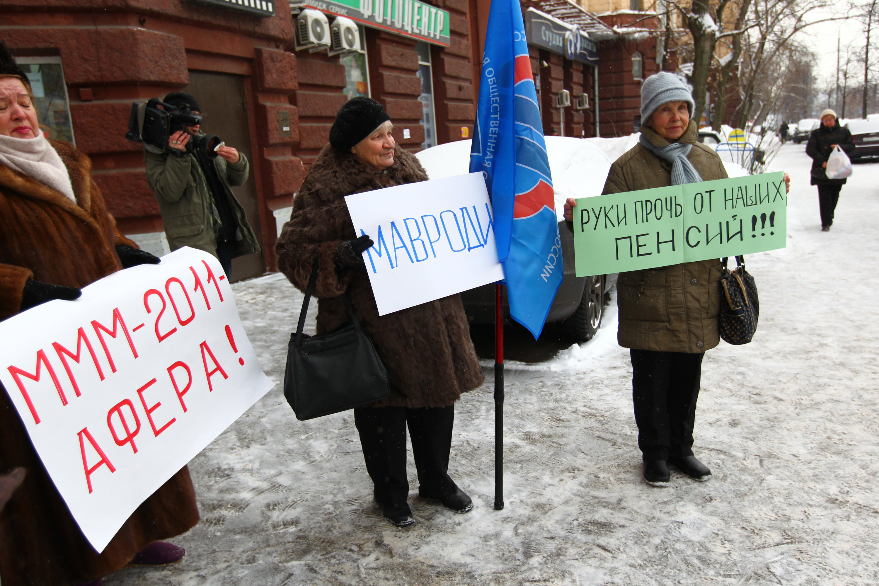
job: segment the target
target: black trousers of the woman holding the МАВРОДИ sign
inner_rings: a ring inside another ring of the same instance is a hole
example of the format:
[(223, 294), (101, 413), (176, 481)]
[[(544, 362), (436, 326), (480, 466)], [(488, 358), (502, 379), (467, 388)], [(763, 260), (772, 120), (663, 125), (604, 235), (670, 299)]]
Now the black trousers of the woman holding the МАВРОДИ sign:
[(454, 405), (449, 407), (363, 407), (354, 409), (363, 459), (375, 486), (375, 500), (402, 507), (409, 496), (406, 474), (406, 424), (412, 438), (412, 456), (418, 469), (419, 490), (443, 498), (458, 489), (448, 475), (452, 450)]

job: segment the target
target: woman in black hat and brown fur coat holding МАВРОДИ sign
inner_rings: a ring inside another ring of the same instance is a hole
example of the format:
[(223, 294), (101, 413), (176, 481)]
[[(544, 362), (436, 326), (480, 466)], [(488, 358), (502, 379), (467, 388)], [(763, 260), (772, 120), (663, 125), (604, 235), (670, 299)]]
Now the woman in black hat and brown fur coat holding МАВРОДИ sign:
[(381, 105), (352, 98), (338, 112), (323, 148), (294, 199), (293, 213), (276, 245), (278, 264), (304, 290), (318, 260), (317, 331), (348, 322), (342, 294), (350, 293), (363, 328), (388, 367), (390, 395), (354, 409), (354, 423), (375, 501), (394, 525), (413, 523), (406, 499), (406, 426), (418, 468), (418, 494), (456, 512), (473, 508), (447, 473), (454, 402), (479, 387), (483, 373), (470, 341), (459, 295), (379, 315), (361, 253), (372, 246), (354, 233), (345, 196), (425, 181), (425, 170), (396, 147)]

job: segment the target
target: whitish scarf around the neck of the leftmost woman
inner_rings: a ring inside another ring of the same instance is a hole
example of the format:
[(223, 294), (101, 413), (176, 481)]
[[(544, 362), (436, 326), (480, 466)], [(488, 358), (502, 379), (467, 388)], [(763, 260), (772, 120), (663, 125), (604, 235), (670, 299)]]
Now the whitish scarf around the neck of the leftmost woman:
[(42, 133), (36, 138), (14, 138), (0, 134), (0, 163), (62, 192), (76, 203), (67, 167)]

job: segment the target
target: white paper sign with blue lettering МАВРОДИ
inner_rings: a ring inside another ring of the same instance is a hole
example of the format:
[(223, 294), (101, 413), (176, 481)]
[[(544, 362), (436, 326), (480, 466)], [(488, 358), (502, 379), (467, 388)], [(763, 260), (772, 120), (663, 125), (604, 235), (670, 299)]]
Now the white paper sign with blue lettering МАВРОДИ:
[(379, 315), (504, 279), (482, 173), (355, 193), (345, 198)]

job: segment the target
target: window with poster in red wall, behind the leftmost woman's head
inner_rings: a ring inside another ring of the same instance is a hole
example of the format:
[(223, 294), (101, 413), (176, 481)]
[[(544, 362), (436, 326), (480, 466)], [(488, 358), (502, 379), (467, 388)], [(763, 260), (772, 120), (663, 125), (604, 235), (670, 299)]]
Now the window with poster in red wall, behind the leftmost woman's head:
[(16, 57), (15, 61), (31, 82), (37, 121), (43, 134), (53, 141), (75, 145), (61, 57)]

